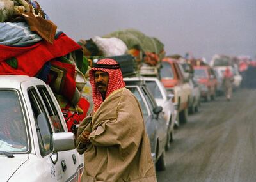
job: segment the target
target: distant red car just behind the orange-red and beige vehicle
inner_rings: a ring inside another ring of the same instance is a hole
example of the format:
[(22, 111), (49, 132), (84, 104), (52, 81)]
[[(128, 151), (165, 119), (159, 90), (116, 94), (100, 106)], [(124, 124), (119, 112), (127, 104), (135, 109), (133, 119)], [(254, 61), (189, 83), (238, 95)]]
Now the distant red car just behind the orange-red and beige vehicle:
[(214, 70), (208, 66), (193, 66), (194, 77), (200, 85), (201, 97), (207, 102), (214, 100), (217, 88), (217, 79)]

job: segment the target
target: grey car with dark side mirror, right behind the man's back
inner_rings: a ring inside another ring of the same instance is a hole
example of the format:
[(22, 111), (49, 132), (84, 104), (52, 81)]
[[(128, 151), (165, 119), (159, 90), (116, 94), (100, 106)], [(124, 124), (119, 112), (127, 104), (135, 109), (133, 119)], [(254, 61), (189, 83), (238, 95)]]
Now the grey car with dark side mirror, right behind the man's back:
[(168, 142), (168, 126), (165, 125), (163, 107), (157, 105), (145, 84), (129, 82), (125, 87), (140, 102), (146, 132), (150, 141), (152, 160), (157, 171), (164, 171), (166, 169), (165, 151)]

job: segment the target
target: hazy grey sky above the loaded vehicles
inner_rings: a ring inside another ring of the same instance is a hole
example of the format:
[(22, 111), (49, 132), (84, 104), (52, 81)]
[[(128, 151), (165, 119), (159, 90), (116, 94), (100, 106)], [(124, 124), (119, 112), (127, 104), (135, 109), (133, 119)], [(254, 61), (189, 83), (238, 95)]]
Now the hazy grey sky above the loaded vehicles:
[(256, 0), (37, 0), (70, 38), (134, 28), (166, 54), (256, 56)]

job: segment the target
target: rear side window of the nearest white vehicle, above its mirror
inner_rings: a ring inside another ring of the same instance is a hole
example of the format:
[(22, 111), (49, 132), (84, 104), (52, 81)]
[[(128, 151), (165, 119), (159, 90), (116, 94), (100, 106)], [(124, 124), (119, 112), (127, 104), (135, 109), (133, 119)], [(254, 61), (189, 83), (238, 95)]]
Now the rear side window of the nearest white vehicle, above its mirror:
[(57, 109), (52, 102), (51, 96), (49, 95), (45, 86), (38, 86), (38, 91), (42, 96), (44, 103), (46, 105), (46, 109), (50, 115), (52, 125), (54, 127), (54, 132), (65, 132), (63, 126), (61, 125), (61, 121), (57, 112)]

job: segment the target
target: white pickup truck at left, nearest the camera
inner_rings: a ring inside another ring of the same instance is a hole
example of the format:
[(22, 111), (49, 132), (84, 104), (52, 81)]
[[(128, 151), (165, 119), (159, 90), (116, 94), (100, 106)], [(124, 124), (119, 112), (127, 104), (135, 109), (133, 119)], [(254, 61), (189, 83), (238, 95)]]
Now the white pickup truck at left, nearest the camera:
[(83, 155), (42, 80), (0, 75), (0, 112), (0, 181), (80, 180)]

